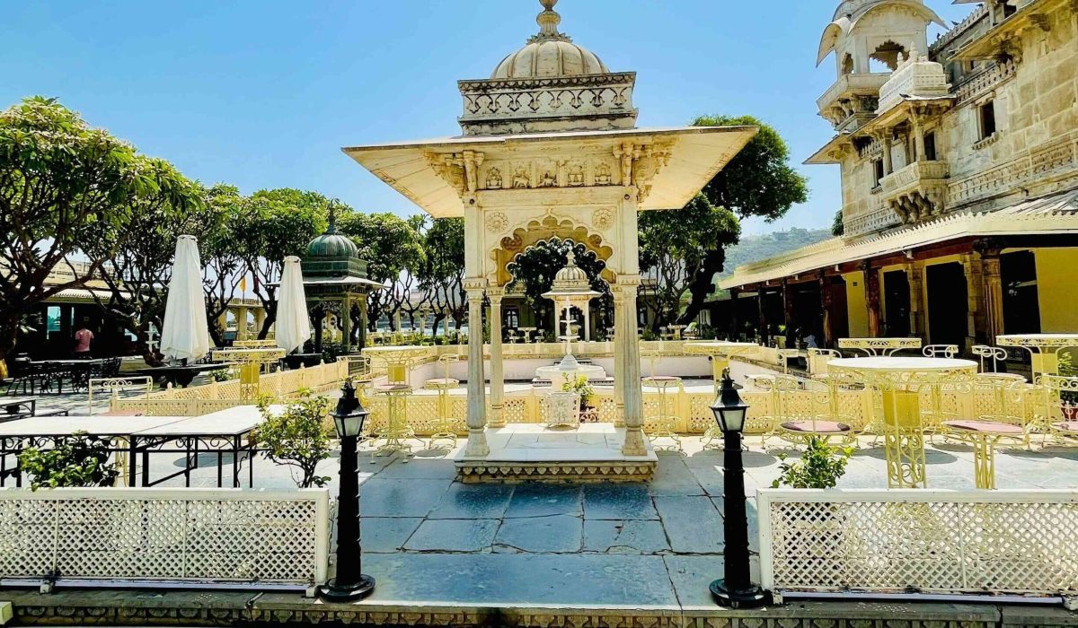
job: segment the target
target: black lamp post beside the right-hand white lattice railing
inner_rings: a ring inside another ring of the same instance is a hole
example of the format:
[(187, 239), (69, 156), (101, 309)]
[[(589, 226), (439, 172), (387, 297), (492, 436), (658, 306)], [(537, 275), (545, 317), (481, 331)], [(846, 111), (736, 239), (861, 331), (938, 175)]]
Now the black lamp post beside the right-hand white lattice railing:
[(723, 474), (723, 549), (724, 573), (711, 583), (711, 597), (722, 606), (755, 609), (770, 601), (771, 596), (752, 584), (748, 561), (748, 514), (745, 512), (745, 464), (742, 461), (742, 431), (748, 406), (742, 401), (730, 377), (722, 373), (722, 389), (711, 402), (715, 421), (722, 430)]

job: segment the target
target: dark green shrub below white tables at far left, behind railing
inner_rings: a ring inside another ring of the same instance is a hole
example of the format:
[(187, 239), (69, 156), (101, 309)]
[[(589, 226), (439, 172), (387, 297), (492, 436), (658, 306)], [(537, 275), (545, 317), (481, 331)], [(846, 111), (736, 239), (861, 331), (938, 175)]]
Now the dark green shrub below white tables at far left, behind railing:
[(53, 449), (23, 449), (18, 463), (30, 476), (30, 488), (112, 486), (120, 472), (109, 464), (109, 442), (86, 432), (59, 438)]

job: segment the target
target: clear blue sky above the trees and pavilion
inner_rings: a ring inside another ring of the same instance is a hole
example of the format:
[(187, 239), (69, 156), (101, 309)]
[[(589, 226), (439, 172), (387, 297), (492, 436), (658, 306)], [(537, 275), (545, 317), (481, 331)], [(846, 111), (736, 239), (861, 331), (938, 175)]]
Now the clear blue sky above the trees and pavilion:
[[(927, 0), (945, 20), (969, 5)], [(837, 0), (562, 0), (561, 30), (636, 71), (640, 126), (752, 114), (778, 128), (812, 198), (777, 225), (829, 226), (835, 167), (800, 166), (832, 135), (815, 68)], [(458, 79), (484, 79), (537, 30), (536, 0), (11, 2), (0, 107), (58, 97), (95, 126), (205, 183), (300, 187), (417, 210), (340, 148), (456, 135)], [(929, 40), (935, 39), (930, 31)]]

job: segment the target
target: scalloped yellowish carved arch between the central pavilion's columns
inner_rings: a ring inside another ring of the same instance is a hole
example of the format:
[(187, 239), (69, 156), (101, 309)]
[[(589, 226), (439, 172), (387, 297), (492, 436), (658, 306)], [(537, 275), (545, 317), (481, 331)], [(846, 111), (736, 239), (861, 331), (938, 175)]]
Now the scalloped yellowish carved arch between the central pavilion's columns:
[(614, 282), (616, 269), (610, 267), (613, 247), (604, 241), (600, 234), (591, 231), (584, 224), (577, 223), (570, 218), (547, 214), (539, 219), (529, 220), (527, 224), (513, 229), (510, 235), (501, 238), (496, 246), (492, 247), (489, 256), (490, 261), (494, 262), (494, 271), (487, 278), (490, 284), (505, 285), (512, 281), (508, 269), (509, 263), (529, 247), (555, 237), (583, 245), (606, 264), (602, 274), (603, 279), (610, 283)]

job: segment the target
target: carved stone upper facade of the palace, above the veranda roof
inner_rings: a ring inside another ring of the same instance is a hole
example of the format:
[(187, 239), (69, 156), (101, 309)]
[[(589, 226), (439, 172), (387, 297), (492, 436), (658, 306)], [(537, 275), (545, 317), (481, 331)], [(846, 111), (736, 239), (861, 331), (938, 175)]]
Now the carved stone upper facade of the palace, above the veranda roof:
[[(1078, 4), (993, 0), (927, 48), (935, 19), (912, 4), (843, 2), (821, 42), (839, 80), (817, 104), (840, 135), (808, 163), (841, 166), (845, 235), (1078, 186)], [(883, 41), (900, 44), (894, 72), (862, 69)]]

